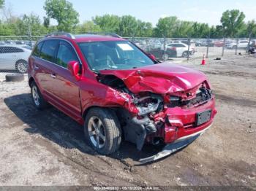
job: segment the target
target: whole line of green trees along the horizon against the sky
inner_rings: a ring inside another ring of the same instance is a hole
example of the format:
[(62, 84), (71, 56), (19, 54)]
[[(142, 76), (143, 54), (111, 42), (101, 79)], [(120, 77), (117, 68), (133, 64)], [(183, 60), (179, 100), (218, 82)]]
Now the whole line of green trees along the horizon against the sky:
[[(244, 12), (238, 9), (223, 12), (219, 26), (170, 16), (159, 18), (155, 27), (132, 15), (97, 15), (91, 20), (79, 23), (79, 13), (67, 0), (46, 0), (43, 9), (47, 17), (43, 20), (33, 13), (20, 17), (12, 15), (12, 9), (4, 6), (4, 0), (0, 0), (0, 9), (4, 18), (0, 20), (0, 36), (40, 36), (53, 31), (67, 31), (73, 34), (113, 32), (121, 36), (167, 38), (256, 37), (255, 20), (245, 22)], [(51, 19), (56, 20), (58, 25), (51, 26)]]

